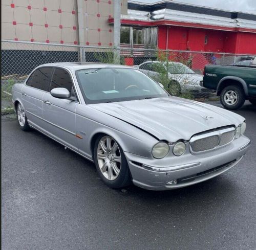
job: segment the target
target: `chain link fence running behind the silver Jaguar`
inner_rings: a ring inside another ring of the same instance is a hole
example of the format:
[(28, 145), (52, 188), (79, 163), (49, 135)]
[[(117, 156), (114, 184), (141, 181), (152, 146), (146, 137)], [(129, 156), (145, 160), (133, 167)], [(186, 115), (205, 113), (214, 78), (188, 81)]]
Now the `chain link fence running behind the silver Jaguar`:
[[(38, 65), (51, 62), (102, 62), (134, 66), (183, 98), (205, 100), (215, 95), (200, 87), (206, 64), (234, 65), (252, 60), (253, 55), (192, 51), (146, 50), (127, 47), (67, 46), (27, 41), (2, 40), (2, 115), (13, 113), (11, 88), (23, 83)], [(156, 63), (160, 62), (160, 63)]]

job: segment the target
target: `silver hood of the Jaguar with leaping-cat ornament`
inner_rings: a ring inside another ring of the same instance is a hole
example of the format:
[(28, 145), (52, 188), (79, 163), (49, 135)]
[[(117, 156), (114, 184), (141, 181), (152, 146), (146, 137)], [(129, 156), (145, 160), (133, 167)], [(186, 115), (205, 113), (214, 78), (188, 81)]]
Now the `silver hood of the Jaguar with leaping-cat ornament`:
[(168, 142), (187, 141), (196, 133), (228, 125), (238, 126), (244, 121), (243, 117), (223, 108), (178, 97), (90, 106)]

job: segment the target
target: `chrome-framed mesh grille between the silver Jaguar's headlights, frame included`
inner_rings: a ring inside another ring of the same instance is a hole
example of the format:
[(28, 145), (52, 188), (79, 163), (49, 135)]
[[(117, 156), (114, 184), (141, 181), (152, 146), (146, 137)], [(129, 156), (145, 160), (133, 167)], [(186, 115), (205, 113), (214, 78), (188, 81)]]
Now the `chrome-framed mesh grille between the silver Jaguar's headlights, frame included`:
[(224, 146), (234, 139), (234, 133), (234, 127), (229, 127), (195, 135), (190, 139), (190, 151), (198, 153)]

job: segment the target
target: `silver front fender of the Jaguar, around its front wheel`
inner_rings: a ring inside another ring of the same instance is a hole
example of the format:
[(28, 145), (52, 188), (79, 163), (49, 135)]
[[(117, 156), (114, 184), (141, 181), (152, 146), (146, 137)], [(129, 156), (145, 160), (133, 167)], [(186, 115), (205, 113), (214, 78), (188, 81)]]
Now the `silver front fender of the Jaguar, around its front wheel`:
[(90, 159), (93, 158), (93, 139), (99, 133), (113, 137), (124, 152), (143, 157), (152, 157), (152, 147), (158, 142), (152, 135), (90, 105), (77, 106), (76, 130), (83, 138), (79, 140), (79, 151)]

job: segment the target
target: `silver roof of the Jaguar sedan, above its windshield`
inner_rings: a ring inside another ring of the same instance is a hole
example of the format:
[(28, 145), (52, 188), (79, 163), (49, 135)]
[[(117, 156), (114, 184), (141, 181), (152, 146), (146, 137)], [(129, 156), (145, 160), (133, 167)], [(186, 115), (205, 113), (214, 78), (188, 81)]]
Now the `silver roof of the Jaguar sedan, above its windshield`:
[(105, 67), (105, 68), (118, 67), (118, 68), (134, 69), (134, 67), (126, 66), (126, 65), (99, 63), (99, 62), (54, 62), (54, 63), (42, 64), (42, 65), (39, 65), (38, 67), (42, 67), (42, 66), (66, 67), (70, 70), (83, 70), (83, 69), (95, 69), (95, 68), (97, 69), (99, 67)]

